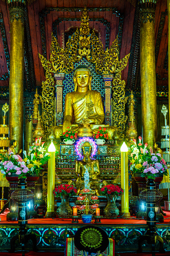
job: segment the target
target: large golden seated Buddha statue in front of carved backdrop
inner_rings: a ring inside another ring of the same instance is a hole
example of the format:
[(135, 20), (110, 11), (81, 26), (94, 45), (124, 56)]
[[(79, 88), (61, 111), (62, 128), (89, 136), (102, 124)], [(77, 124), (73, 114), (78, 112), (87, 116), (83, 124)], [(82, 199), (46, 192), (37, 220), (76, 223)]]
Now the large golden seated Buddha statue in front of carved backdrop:
[(108, 139), (112, 139), (113, 133), (118, 132), (116, 126), (102, 124), (104, 121), (102, 99), (98, 91), (91, 90), (91, 80), (90, 70), (84, 65), (78, 66), (73, 77), (74, 92), (67, 93), (65, 97), (63, 125), (53, 126), (56, 139), (60, 139), (67, 127), (77, 131), (83, 121), (90, 123), (93, 133), (97, 133), (99, 126), (105, 127)]

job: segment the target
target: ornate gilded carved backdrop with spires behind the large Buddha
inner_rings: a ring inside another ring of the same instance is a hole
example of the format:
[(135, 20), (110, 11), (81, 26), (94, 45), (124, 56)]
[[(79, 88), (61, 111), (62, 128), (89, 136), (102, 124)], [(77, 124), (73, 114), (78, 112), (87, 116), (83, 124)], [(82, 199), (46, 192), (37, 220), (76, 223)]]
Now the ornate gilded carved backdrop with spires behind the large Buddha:
[[(121, 133), (124, 132), (125, 122), (127, 120), (127, 117), (124, 115), (124, 107), (127, 98), (124, 96), (125, 82), (121, 81), (121, 71), (127, 65), (129, 54), (124, 58), (119, 59), (119, 44), (117, 37), (112, 43), (110, 49), (107, 48), (104, 51), (103, 44), (96, 36), (94, 30), (92, 33), (90, 33), (89, 17), (87, 15), (86, 8), (82, 13), (80, 27), (77, 28), (73, 35), (68, 39), (66, 47), (60, 47), (57, 39), (52, 34), (50, 59), (47, 60), (41, 54), (39, 54), (39, 56), (42, 65), (46, 70), (46, 81), (42, 83), (42, 120), (46, 131), (46, 136), (48, 136), (51, 126), (54, 125), (54, 77), (52, 74), (57, 73), (57, 76), (61, 75), (61, 77), (63, 77), (63, 74), (66, 74), (66, 78), (64, 80), (65, 82), (62, 82), (62, 80), (57, 81), (57, 85), (60, 87), (64, 86), (64, 99), (67, 92), (73, 91), (73, 71), (80, 63), (86, 63), (91, 67), (93, 74), (96, 73), (93, 77), (94, 81), (92, 89), (100, 91), (102, 96), (104, 96), (104, 82), (102, 82), (101, 76), (109, 77), (110, 75), (113, 75), (112, 86), (114, 92), (113, 107), (112, 111), (110, 112), (112, 113), (111, 123), (119, 126)], [(112, 81), (112, 79), (110, 81)], [(111, 87), (111, 82), (105, 82), (105, 87), (108, 85)], [(47, 93), (48, 90), (50, 93)], [(105, 100), (105, 105), (106, 104), (107, 102)], [(62, 113), (59, 112), (57, 115), (58, 114), (60, 116), (59, 118), (61, 119)]]

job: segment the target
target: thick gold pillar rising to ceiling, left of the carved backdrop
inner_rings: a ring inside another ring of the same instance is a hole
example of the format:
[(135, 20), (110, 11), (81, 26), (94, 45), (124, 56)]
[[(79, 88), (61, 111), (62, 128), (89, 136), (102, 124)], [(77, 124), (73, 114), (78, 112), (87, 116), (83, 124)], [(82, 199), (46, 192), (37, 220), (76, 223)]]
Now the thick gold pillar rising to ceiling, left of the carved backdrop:
[[(24, 2), (24, 1), (21, 1)], [(24, 5), (8, 0), (10, 10), (10, 140), (17, 140), (16, 151), (23, 148), (23, 73), (24, 73)]]

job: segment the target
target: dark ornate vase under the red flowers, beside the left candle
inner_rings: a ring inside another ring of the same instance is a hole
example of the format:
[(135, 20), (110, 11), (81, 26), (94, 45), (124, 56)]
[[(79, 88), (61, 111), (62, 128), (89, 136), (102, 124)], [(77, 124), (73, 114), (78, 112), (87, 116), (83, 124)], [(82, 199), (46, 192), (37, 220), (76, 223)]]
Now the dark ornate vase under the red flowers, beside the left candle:
[(57, 209), (59, 218), (71, 218), (72, 208), (69, 206), (69, 195), (61, 195), (61, 205)]

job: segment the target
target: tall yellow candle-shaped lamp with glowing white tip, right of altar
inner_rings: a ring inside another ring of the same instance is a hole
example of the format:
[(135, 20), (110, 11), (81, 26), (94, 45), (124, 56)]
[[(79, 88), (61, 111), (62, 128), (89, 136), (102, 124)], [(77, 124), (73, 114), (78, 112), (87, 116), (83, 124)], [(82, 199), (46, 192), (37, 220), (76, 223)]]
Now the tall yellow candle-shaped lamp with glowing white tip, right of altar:
[(121, 148), (121, 188), (124, 193), (121, 196), (120, 216), (130, 218), (129, 213), (129, 174), (128, 174), (128, 148), (123, 142)]

